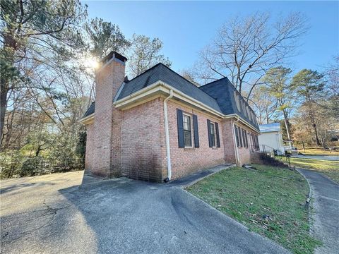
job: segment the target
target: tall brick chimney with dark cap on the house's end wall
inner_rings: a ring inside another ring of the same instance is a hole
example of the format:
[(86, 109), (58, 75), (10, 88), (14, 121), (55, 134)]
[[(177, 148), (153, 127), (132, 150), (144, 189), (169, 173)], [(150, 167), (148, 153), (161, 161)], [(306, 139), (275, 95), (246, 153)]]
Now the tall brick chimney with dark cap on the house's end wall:
[(96, 72), (93, 174), (119, 176), (121, 169), (121, 111), (113, 98), (124, 82), (126, 57), (109, 53)]

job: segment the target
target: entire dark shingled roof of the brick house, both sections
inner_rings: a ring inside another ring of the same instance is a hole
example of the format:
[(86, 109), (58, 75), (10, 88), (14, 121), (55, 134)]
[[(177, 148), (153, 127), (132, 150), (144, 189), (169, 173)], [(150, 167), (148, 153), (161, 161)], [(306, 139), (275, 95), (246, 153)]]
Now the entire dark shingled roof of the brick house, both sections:
[[(207, 85), (196, 87), (196, 85), (189, 82), (189, 80), (186, 80), (186, 78), (183, 78), (162, 63), (157, 63), (157, 65), (136, 76), (136, 78), (127, 82), (125, 81), (117, 100), (123, 99), (159, 80), (222, 114), (238, 114), (242, 119), (256, 127), (257, 130), (259, 129), (258, 123), (256, 123), (255, 120), (254, 111), (245, 102), (239, 92), (237, 92), (232, 83), (230, 83), (230, 80), (222, 78)], [(252, 112), (250, 114), (254, 114), (254, 117), (249, 116), (248, 112), (245, 112), (246, 108), (247, 111)], [(94, 110), (95, 102), (90, 105), (83, 117), (93, 114)]]

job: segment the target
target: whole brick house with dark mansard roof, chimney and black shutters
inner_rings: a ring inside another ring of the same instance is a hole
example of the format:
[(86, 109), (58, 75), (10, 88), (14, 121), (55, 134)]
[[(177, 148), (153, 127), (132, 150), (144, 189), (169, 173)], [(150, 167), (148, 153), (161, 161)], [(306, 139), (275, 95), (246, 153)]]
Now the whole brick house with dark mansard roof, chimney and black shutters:
[(260, 131), (230, 80), (197, 87), (162, 63), (126, 80), (126, 60), (111, 52), (97, 70), (96, 100), (81, 119), (86, 171), (162, 182), (250, 162)]

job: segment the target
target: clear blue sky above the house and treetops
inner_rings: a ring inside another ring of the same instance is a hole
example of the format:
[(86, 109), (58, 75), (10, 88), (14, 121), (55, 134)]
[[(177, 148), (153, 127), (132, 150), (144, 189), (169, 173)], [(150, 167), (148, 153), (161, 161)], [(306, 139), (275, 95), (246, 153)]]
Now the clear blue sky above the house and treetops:
[(172, 69), (190, 68), (228, 18), (267, 11), (273, 19), (292, 11), (303, 13), (309, 32), (301, 40), (292, 69), (321, 71), (339, 54), (339, 1), (83, 1), (89, 18), (119, 25), (127, 38), (133, 33), (158, 37)]

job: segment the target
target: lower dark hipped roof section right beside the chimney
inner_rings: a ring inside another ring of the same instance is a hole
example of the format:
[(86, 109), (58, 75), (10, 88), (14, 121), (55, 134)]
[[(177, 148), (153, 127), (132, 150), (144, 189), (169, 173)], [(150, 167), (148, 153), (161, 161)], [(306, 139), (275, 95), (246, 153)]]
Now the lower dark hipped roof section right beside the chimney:
[(136, 78), (126, 82), (117, 100), (123, 99), (124, 97), (127, 97), (144, 87), (152, 85), (159, 80), (171, 85), (181, 92), (184, 92), (184, 94), (189, 95), (199, 102), (206, 104), (208, 107), (211, 107), (220, 113), (222, 112), (215, 99), (162, 63), (157, 63), (157, 65), (148, 69), (148, 71), (145, 71), (144, 73), (141, 73), (141, 75), (136, 76)]

